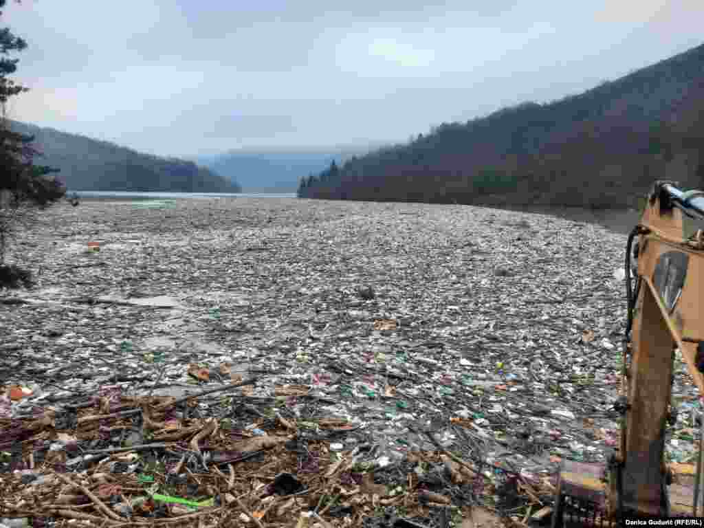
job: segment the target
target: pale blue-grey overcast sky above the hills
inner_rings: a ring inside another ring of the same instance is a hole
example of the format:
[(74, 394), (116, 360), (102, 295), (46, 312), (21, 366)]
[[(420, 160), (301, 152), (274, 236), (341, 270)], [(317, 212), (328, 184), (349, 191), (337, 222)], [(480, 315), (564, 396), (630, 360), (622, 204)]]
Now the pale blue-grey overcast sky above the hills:
[(8, 117), (161, 156), (405, 142), (704, 43), (701, 0), (22, 0)]

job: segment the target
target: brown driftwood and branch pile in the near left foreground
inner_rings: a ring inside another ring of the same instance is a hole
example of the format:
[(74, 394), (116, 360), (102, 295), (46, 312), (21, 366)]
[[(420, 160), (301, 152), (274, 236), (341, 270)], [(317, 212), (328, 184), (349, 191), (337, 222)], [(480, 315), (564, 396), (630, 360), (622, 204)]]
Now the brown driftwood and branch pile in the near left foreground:
[[(34, 526), (73, 519), (260, 527), (307, 519), (327, 527), (361, 526), (384, 510), (403, 522), (433, 512), (449, 522), (493, 488), (490, 474), (452, 453), (378, 464), (369, 444), (344, 450), (341, 441), (358, 426), (335, 417), (303, 422), (287, 406), (310, 387), (277, 387), (276, 401), (260, 413), (243, 403), (257, 382), (179, 399), (103, 386), (61, 411), (1, 419), (0, 516), (29, 517)], [(227, 400), (221, 415), (199, 416), (198, 399), (214, 394)]]

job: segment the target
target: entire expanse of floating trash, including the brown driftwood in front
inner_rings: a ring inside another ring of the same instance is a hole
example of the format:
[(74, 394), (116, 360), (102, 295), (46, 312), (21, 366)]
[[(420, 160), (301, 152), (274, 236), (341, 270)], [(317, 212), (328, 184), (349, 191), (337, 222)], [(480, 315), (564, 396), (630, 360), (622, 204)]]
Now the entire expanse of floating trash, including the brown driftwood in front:
[(50, 208), (8, 256), (37, 284), (0, 292), (0, 523), (545, 520), (560, 460), (616, 442), (625, 241), (471, 206)]

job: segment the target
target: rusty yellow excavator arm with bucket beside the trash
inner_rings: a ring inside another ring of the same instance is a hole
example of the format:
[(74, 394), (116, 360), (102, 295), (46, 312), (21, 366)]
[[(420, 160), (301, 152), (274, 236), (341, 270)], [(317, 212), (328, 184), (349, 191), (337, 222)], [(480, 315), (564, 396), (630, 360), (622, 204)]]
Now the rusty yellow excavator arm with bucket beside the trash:
[(704, 234), (691, 228), (702, 220), (704, 192), (655, 182), (629, 234), (624, 263), (628, 322), (615, 403), (622, 415), (620, 444), (605, 466), (563, 463), (555, 528), (570, 508), (583, 520), (602, 522), (695, 513), (699, 470), (693, 486), (673, 483), (664, 453), (667, 427), (676, 421), (670, 402), (678, 349), (704, 394)]

